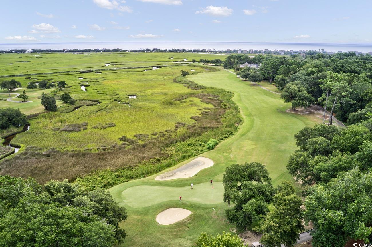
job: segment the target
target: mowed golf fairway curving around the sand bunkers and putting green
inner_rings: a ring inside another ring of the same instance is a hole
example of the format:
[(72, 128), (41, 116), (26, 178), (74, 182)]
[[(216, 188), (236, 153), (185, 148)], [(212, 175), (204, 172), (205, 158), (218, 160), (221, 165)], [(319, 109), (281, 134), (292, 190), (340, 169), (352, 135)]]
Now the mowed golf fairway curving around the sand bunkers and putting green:
[[(156, 181), (157, 174), (109, 189), (114, 198), (128, 208), (128, 220), (122, 223), (128, 235), (122, 246), (193, 246), (202, 231), (210, 234), (230, 231), (234, 225), (226, 221), (227, 204), (222, 202), (221, 182), (226, 167), (234, 163), (261, 162), (270, 172), (274, 185), (283, 180), (293, 181), (286, 172), (286, 161), (296, 149), (293, 135), (316, 123), (307, 116), (286, 114), (290, 104), (284, 103), (280, 95), (242, 81), (230, 72), (201, 73), (188, 79), (234, 92), (233, 100), (240, 107), (244, 122), (237, 134), (201, 155), (214, 160), (215, 165), (192, 178)], [(210, 179), (214, 181), (215, 191), (208, 183)], [(191, 191), (190, 183), (194, 184), (195, 191)], [(173, 225), (157, 224), (156, 215), (171, 207), (193, 213)]]

